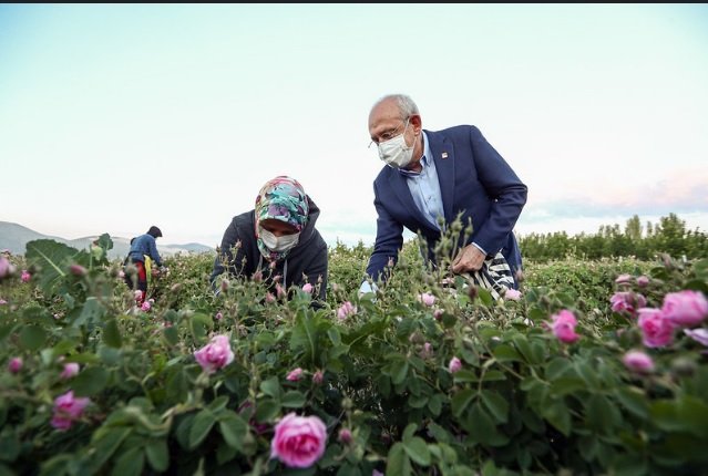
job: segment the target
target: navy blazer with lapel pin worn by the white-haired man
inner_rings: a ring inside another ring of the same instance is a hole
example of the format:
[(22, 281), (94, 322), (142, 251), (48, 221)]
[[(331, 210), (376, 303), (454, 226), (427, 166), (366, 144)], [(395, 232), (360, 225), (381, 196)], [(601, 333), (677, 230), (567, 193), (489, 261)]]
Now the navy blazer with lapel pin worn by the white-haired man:
[[(424, 132), (435, 161), (445, 223), (451, 224), (461, 213), (462, 235), (471, 218), (473, 231), (464, 245), (474, 241), (488, 255), (501, 250), (512, 272), (521, 269), (513, 228), (526, 203), (526, 185), (478, 127), (459, 125)], [(374, 280), (386, 279), (381, 272), (389, 260), (398, 260), (403, 227), (425, 238), (429, 259), (434, 262), (432, 249), (441, 234), (415, 206), (406, 177), (384, 166), (373, 180), (373, 195), (377, 237), (367, 275)]]

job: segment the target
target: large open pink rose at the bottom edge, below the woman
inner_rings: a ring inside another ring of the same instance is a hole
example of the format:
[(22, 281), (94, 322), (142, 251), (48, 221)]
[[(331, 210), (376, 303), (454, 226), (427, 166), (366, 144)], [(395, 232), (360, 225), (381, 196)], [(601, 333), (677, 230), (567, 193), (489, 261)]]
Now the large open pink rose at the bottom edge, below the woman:
[(275, 426), (270, 457), (286, 466), (306, 468), (325, 454), (327, 427), (318, 416), (288, 413)]

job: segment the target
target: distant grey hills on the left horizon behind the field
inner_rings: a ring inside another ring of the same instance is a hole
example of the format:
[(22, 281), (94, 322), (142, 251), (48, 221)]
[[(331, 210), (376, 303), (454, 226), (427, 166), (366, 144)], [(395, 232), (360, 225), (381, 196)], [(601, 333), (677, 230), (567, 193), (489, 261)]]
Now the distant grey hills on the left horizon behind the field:
[[(0, 221), (0, 250), (9, 249), (13, 255), (24, 255), (27, 244), (35, 239), (53, 239), (54, 241), (62, 242), (72, 248), (86, 249), (98, 237), (99, 235), (70, 240), (55, 236), (42, 235), (23, 227), (22, 225), (10, 221)], [(112, 236), (111, 239), (113, 240), (113, 248), (109, 250), (109, 258), (116, 259), (125, 257), (127, 251), (131, 249), (131, 239), (114, 236)], [(172, 256), (178, 252), (187, 255), (212, 252), (215, 250), (209, 246), (197, 242), (186, 245), (160, 245), (158, 242), (157, 251), (160, 251), (161, 256)]]

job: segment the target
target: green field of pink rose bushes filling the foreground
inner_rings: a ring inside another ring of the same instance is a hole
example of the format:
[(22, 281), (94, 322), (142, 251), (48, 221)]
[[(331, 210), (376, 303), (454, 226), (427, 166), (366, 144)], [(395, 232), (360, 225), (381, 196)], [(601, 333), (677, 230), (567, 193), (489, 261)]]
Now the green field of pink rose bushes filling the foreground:
[[(708, 260), (525, 263), (494, 301), (407, 244), (377, 293), (330, 250), (293, 299), (165, 259), (0, 255), (0, 475), (698, 475)], [(523, 251), (523, 250), (522, 250)]]

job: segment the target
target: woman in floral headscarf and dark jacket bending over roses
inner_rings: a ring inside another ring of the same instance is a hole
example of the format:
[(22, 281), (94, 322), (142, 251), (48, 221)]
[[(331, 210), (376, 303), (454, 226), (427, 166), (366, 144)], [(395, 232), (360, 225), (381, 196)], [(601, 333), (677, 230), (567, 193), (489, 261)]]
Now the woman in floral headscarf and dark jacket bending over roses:
[[(237, 215), (224, 232), (211, 282), (225, 270), (233, 277), (263, 279), (273, 296), (309, 283), (312, 296), (327, 293), (327, 244), (315, 228), (319, 208), (294, 178), (268, 180), (254, 209)], [(309, 287), (308, 287), (309, 288)]]

